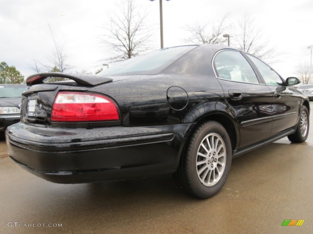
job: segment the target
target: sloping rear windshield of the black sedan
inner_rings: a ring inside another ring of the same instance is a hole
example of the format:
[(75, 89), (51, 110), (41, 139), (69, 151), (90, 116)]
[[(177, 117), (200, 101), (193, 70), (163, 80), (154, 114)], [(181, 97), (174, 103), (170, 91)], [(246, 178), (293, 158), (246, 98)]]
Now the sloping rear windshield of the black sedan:
[(197, 46), (177, 46), (130, 58), (100, 72), (100, 76), (155, 75)]

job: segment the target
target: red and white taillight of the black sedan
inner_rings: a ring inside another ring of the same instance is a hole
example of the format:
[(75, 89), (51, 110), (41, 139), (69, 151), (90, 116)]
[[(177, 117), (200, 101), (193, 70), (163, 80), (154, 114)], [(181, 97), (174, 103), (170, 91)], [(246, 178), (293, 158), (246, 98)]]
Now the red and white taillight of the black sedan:
[(117, 106), (108, 97), (82, 92), (59, 92), (54, 100), (51, 121), (90, 122), (119, 120)]

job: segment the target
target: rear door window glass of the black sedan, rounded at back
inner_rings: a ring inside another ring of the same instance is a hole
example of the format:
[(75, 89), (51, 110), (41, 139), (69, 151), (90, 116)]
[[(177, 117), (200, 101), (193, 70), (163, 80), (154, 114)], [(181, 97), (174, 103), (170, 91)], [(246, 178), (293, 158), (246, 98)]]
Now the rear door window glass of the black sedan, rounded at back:
[(252, 67), (238, 51), (221, 51), (214, 59), (214, 66), (219, 78), (226, 80), (259, 83)]

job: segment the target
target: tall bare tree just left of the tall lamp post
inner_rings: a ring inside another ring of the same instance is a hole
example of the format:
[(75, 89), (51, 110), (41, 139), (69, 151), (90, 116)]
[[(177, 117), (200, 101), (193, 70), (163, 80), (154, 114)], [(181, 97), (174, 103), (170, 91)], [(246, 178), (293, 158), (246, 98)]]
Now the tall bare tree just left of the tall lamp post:
[(107, 35), (102, 39), (116, 52), (111, 61), (123, 61), (149, 49), (151, 31), (145, 24), (146, 12), (136, 5), (136, 0), (122, 1), (119, 11), (110, 14), (106, 25)]

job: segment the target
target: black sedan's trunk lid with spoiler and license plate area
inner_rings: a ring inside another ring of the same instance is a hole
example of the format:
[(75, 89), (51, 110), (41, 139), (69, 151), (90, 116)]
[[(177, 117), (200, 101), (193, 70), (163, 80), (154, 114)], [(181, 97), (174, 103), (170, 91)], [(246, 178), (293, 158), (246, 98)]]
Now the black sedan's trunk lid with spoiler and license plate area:
[(49, 125), (54, 99), (59, 91), (86, 92), (113, 79), (88, 74), (47, 72), (29, 76), (22, 96), (21, 122)]

